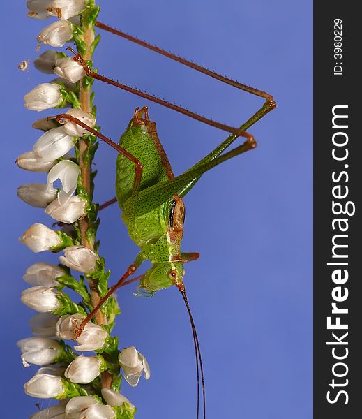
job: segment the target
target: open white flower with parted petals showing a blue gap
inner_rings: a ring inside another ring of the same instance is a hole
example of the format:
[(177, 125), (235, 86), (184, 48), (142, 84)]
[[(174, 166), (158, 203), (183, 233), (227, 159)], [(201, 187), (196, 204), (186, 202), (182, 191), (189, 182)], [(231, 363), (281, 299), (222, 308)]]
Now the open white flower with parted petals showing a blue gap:
[(56, 163), (54, 167), (50, 169), (47, 175), (47, 188), (51, 191), (54, 190), (53, 183), (56, 179), (61, 181), (61, 191), (58, 194), (58, 200), (61, 205), (64, 205), (73, 195), (77, 188), (78, 176), (80, 174), (80, 168), (76, 163), (70, 160), (62, 160)]

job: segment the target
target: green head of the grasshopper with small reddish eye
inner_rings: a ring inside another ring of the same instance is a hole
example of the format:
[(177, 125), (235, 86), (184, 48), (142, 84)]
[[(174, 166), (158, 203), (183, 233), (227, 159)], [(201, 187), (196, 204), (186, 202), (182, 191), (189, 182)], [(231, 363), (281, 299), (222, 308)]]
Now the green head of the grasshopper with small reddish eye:
[(155, 263), (142, 277), (140, 286), (146, 291), (159, 291), (183, 284), (185, 271), (182, 262)]

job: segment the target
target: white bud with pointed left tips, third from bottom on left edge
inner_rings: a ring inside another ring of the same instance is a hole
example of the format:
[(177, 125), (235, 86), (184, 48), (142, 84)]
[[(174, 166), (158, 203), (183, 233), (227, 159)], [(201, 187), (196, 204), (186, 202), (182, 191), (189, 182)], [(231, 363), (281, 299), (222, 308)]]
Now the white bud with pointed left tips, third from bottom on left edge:
[(47, 365), (54, 362), (55, 358), (61, 353), (60, 344), (47, 337), (27, 337), (17, 341), (20, 351), (22, 351), (22, 363), (24, 367), (34, 365)]

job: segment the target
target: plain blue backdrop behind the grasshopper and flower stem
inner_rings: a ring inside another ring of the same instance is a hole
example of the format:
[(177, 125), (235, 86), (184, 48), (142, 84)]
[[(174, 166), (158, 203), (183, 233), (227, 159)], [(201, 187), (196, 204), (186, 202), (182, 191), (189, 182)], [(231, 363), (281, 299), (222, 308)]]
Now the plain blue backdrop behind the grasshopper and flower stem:
[[(264, 89), (277, 110), (250, 128), (255, 151), (202, 177), (186, 197), (184, 251), (201, 258), (186, 265), (186, 286), (204, 358), (208, 418), (312, 418), (312, 2), (287, 0), (99, 1), (100, 20), (193, 59), (231, 78)], [(17, 242), (32, 223), (52, 220), (16, 196), (17, 186), (45, 182), (14, 161), (40, 136), (31, 123), (54, 111), (31, 112), (22, 97), (52, 80), (23, 59), (36, 58), (36, 36), (52, 20), (26, 16), (25, 1), (4, 2), (1, 66), (1, 372), (3, 417), (27, 418), (49, 401), (24, 395), (24, 369), (15, 341), (29, 336), (33, 315), (20, 302), (24, 271), (58, 256), (33, 254)], [(239, 126), (262, 99), (102, 33), (95, 64), (139, 89)], [(43, 52), (47, 47), (42, 47)], [(176, 174), (226, 137), (176, 112), (95, 82), (98, 124), (119, 138), (137, 105), (150, 107)], [(96, 200), (114, 196), (110, 147), (96, 155)], [(100, 254), (113, 284), (133, 261), (116, 205), (101, 214)], [(152, 299), (119, 291), (114, 333), (149, 360), (151, 380), (122, 392), (137, 418), (195, 417), (195, 359), (186, 309), (171, 288)]]

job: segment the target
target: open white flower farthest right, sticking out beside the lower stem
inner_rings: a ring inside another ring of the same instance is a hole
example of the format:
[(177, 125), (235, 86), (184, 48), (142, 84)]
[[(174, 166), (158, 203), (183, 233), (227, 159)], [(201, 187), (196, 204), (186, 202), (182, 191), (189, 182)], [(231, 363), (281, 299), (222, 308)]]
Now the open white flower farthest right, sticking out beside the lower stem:
[(118, 360), (123, 369), (124, 379), (128, 384), (132, 385), (132, 387), (135, 387), (138, 384), (142, 372), (144, 372), (144, 378), (146, 378), (146, 380), (150, 378), (151, 372), (149, 364), (142, 353), (137, 351), (135, 346), (123, 349), (118, 355)]

